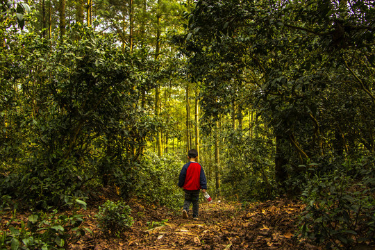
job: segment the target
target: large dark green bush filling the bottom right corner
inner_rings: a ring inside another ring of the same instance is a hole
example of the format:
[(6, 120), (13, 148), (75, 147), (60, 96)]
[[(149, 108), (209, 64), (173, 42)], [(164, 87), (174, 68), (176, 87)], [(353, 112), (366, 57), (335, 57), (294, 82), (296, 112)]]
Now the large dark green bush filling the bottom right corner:
[(302, 236), (326, 249), (374, 244), (374, 170), (374, 160), (364, 160), (315, 175), (303, 192)]

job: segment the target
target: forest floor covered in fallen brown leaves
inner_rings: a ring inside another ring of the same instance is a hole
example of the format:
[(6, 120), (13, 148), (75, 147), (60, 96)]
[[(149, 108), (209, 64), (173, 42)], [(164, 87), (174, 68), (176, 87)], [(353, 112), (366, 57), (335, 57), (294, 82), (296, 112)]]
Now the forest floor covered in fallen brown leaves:
[[(107, 199), (119, 199), (115, 192), (106, 191), (91, 199), (87, 210), (78, 211), (85, 216), (83, 227), (92, 233), (72, 242), (69, 249), (322, 249), (294, 237), (303, 204), (287, 198), (247, 206), (228, 201), (202, 202), (199, 220), (192, 220), (191, 214), (190, 219), (183, 219), (179, 211), (131, 199), (128, 205), (133, 226), (119, 238), (106, 238), (97, 228), (95, 215)], [(28, 215), (20, 216), (26, 219)]]

